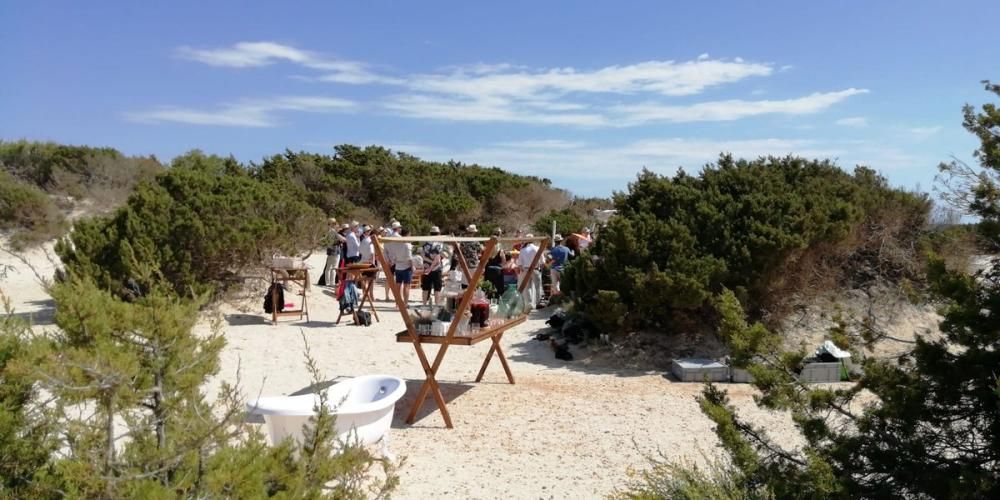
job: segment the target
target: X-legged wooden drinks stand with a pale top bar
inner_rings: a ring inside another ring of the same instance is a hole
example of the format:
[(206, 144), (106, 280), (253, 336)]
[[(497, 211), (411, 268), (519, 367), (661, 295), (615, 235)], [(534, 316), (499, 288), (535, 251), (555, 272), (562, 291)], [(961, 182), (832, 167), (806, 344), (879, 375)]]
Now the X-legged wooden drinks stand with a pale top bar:
[[(469, 283), (469, 288), (467, 288), (462, 294), (462, 299), (459, 301), (458, 307), (455, 309), (454, 319), (451, 321), (451, 325), (448, 327), (448, 331), (444, 336), (419, 335), (417, 333), (416, 326), (414, 326), (413, 320), (410, 318), (408, 304), (403, 302), (402, 295), (400, 294), (399, 287), (396, 283), (396, 278), (393, 276), (389, 261), (385, 258), (385, 254), (381, 248), (381, 243), (391, 244), (414, 242), (438, 242), (450, 244), (454, 249), (454, 255), (457, 256), (459, 267), (462, 268), (462, 274), (465, 275), (466, 281)], [(485, 243), (485, 248), (479, 258), (479, 265), (476, 266), (475, 270), (469, 269), (469, 265), (465, 261), (465, 257), (462, 255), (460, 245), (465, 242)], [(538, 243), (538, 252), (535, 253), (535, 258), (532, 260), (531, 266), (528, 268), (528, 273), (532, 273), (535, 268), (538, 267), (538, 262), (545, 253), (548, 238), (462, 238), (453, 236), (378, 238), (377, 236), (373, 236), (375, 258), (378, 261), (378, 264), (382, 267), (382, 271), (385, 273), (385, 279), (389, 283), (389, 288), (392, 289), (392, 295), (396, 300), (396, 308), (403, 316), (403, 322), (406, 324), (406, 330), (396, 334), (396, 341), (411, 342), (414, 350), (417, 351), (417, 358), (420, 359), (420, 364), (424, 369), (425, 380), (424, 383), (421, 384), (420, 390), (417, 392), (417, 399), (414, 400), (413, 407), (410, 408), (410, 413), (406, 417), (406, 423), (413, 424), (417, 417), (417, 411), (419, 411), (420, 407), (423, 406), (424, 401), (427, 399), (427, 394), (430, 393), (434, 396), (434, 401), (437, 403), (438, 409), (441, 410), (441, 417), (444, 418), (445, 425), (449, 429), (454, 427), (451, 423), (451, 415), (448, 414), (448, 407), (445, 404), (444, 396), (441, 395), (441, 387), (438, 385), (437, 379), (435, 378), (438, 370), (441, 368), (441, 362), (444, 360), (445, 353), (448, 352), (448, 346), (473, 345), (478, 344), (483, 340), (490, 339), (493, 342), (493, 345), (490, 346), (490, 350), (486, 354), (486, 359), (483, 360), (483, 365), (479, 368), (479, 375), (476, 376), (476, 382), (483, 379), (483, 374), (486, 373), (486, 367), (489, 366), (490, 361), (493, 359), (493, 355), (496, 354), (497, 358), (500, 359), (500, 364), (503, 365), (504, 373), (507, 375), (507, 381), (511, 384), (514, 383), (514, 375), (511, 374), (510, 366), (507, 365), (507, 358), (503, 354), (503, 348), (500, 345), (500, 340), (503, 338), (505, 331), (524, 322), (527, 318), (525, 314), (518, 315), (518, 317), (507, 320), (500, 325), (483, 328), (474, 336), (456, 336), (455, 332), (457, 331), (459, 322), (462, 321), (465, 312), (468, 311), (469, 307), (472, 305), (472, 296), (475, 293), (480, 280), (483, 279), (483, 274), (486, 272), (486, 262), (497, 250), (497, 245), (501, 243), (513, 244), (527, 242)], [(526, 277), (522, 277), (517, 287), (518, 292), (523, 293), (524, 288), (530, 282), (530, 274)], [(428, 361), (427, 354), (424, 352), (423, 344), (441, 345), (441, 348), (438, 349), (437, 355), (434, 357), (434, 363)]]

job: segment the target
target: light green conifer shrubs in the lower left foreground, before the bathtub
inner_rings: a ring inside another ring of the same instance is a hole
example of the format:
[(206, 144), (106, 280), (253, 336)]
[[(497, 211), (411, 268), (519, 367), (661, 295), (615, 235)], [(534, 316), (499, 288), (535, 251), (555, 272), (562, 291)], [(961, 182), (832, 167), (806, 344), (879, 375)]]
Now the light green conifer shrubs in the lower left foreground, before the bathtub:
[(0, 318), (0, 497), (364, 498), (398, 483), (393, 462), (338, 440), (325, 404), (303, 445), (268, 446), (238, 383), (210, 403), (225, 341), (192, 332), (204, 298), (154, 286), (125, 302), (73, 274), (50, 292), (59, 330), (29, 338)]

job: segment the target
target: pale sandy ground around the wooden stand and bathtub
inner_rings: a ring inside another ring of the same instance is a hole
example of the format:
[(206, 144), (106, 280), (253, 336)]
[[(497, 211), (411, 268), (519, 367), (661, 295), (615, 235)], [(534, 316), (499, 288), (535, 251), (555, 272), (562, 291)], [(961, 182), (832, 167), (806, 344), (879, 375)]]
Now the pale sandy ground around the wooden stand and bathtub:
[[(40, 250), (26, 256), (40, 274), (51, 276), (53, 266)], [(323, 258), (309, 264), (319, 269)], [(40, 330), (53, 328), (53, 304), (34, 275), (8, 254), (0, 253), (2, 263), (16, 266), (0, 281), (16, 312), (34, 318)], [(312, 274), (315, 281), (318, 274)], [(221, 371), (205, 389), (214, 395), (221, 381), (235, 381), (237, 367), (248, 397), (308, 387), (303, 334), (329, 380), (373, 373), (404, 378), (407, 392), (391, 430), (392, 451), (405, 457), (396, 498), (595, 498), (621, 487), (630, 470), (647, 467), (647, 457), (658, 452), (699, 464), (721, 456), (713, 425), (695, 401), (701, 384), (674, 382), (662, 372), (556, 360), (545, 343), (532, 340), (547, 329), (550, 309), (504, 335), (515, 385), (506, 383), (496, 360), (482, 383), (473, 382), (488, 341), (452, 346), (438, 380), (455, 428), (445, 428), (431, 398), (408, 425), (403, 420), (423, 370), (412, 345), (395, 340), (403, 322), (393, 303), (376, 302), (381, 321), (371, 327), (354, 326), (348, 318), (334, 326), (337, 308), (329, 293), (311, 288), (309, 322), (290, 318), (272, 326), (259, 305), (250, 313), (220, 307), (227, 345)], [(382, 294), (379, 287), (376, 297)], [(197, 326), (200, 334), (210, 331), (207, 316)], [(435, 352), (428, 347), (430, 356)], [(586, 355), (576, 348), (573, 353)], [(757, 409), (747, 385), (727, 387), (741, 415), (770, 429), (780, 444), (798, 444), (787, 416)]]

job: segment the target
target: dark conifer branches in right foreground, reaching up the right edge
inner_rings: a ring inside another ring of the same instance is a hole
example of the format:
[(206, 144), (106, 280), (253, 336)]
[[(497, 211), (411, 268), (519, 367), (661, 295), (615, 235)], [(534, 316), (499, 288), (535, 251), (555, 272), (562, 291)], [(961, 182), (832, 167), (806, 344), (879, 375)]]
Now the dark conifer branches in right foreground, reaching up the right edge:
[[(1000, 96), (1000, 85), (986, 82)], [(981, 145), (973, 167), (941, 166), (950, 199), (980, 219), (985, 243), (1000, 245), (1000, 108), (966, 106), (964, 126)], [(1000, 496), (1000, 261), (975, 274), (930, 260), (930, 289), (943, 301), (940, 338), (917, 336), (898, 358), (866, 358), (850, 387), (806, 385), (796, 376), (804, 352), (745, 320), (737, 295), (714, 300), (720, 333), (734, 364), (747, 368), (761, 391), (758, 405), (788, 411), (805, 440), (784, 449), (766, 429), (749, 425), (726, 393), (708, 385), (699, 402), (716, 425), (732, 469), (700, 476), (687, 469), (655, 470), (629, 490), (638, 498), (678, 498), (686, 492), (733, 491), (761, 498), (997, 498)], [(872, 339), (867, 332), (831, 332), (844, 348)], [(855, 350), (855, 353), (859, 351)], [(688, 496), (689, 498), (691, 496)]]

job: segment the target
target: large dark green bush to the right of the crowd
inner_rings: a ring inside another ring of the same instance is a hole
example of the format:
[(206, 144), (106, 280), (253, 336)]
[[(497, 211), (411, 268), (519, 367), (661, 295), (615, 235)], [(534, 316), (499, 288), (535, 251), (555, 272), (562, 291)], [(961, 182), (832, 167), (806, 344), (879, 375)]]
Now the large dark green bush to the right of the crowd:
[[(577, 259), (564, 290), (584, 310), (599, 290), (614, 290), (633, 320), (664, 324), (703, 311), (723, 287), (759, 314), (824, 258), (902, 274), (893, 259), (912, 256), (889, 255), (884, 242), (912, 243), (930, 208), (926, 196), (891, 189), (867, 168), (851, 175), (829, 162), (727, 155), (698, 177), (644, 171), (615, 206), (591, 247), (596, 264)], [(869, 238), (875, 230), (881, 239)]]

